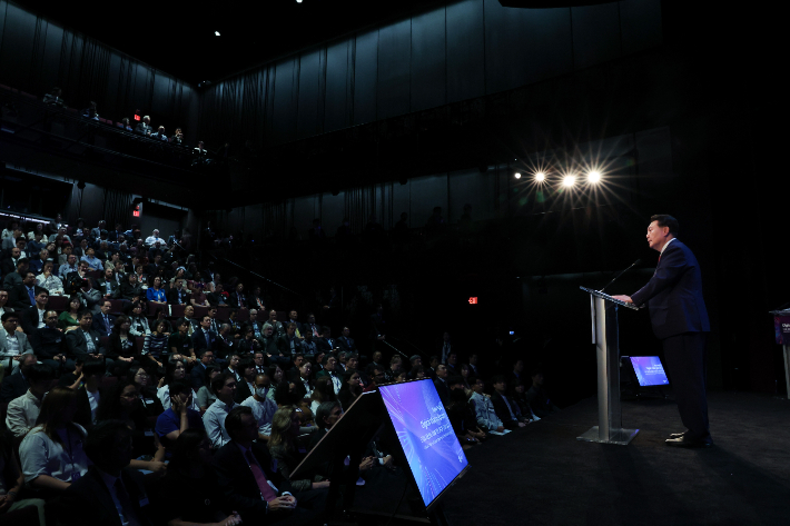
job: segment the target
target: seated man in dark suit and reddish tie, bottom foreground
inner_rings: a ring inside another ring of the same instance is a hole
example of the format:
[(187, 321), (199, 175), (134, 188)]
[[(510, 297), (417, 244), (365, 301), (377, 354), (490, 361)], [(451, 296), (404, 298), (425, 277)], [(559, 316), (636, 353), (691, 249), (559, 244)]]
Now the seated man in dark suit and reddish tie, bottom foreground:
[[(225, 504), (241, 516), (244, 524), (310, 524), (324, 510), (326, 492), (290, 494), (290, 483), (273, 469), (268, 449), (256, 443), (258, 425), (253, 409), (237, 406), (225, 418), (230, 441), (214, 455)], [(276, 489), (271, 487), (271, 485)]]

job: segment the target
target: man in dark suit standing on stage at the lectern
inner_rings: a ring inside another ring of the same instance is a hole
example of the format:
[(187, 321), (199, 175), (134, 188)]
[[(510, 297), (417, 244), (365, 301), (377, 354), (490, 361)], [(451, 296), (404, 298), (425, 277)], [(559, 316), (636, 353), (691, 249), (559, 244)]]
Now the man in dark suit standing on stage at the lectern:
[(633, 295), (614, 298), (648, 305), (653, 333), (663, 345), (664, 361), (687, 431), (670, 436), (666, 445), (709, 447), (713, 444), (708, 425), (705, 396), (705, 340), (710, 321), (702, 297), (702, 275), (692, 251), (675, 236), (672, 216), (650, 218), (648, 244), (658, 250), (659, 264), (648, 285)]

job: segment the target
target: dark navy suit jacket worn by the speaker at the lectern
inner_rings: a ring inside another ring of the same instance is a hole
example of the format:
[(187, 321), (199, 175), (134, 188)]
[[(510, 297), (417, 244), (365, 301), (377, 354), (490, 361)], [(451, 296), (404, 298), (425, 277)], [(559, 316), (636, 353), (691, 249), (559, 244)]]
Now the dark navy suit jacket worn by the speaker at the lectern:
[(635, 305), (648, 305), (653, 333), (659, 339), (710, 331), (700, 266), (689, 247), (678, 239), (664, 248), (655, 274), (631, 299)]

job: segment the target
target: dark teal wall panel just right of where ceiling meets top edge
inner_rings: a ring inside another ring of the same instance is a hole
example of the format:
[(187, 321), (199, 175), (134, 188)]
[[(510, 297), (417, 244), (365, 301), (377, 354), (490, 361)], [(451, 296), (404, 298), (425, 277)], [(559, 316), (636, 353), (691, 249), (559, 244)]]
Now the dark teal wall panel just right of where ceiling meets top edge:
[(485, 95), (483, 0), (447, 6), (447, 102)]

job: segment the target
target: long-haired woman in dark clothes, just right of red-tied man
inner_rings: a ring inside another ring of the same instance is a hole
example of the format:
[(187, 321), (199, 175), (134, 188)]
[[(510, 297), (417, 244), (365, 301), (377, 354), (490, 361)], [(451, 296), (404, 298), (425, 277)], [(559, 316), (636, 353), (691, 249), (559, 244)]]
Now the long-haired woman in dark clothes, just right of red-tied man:
[[(269, 436), (268, 447), (271, 458), (276, 460), (277, 470), (290, 480), (290, 474), (304, 458), (296, 448), (296, 439), (299, 436), (302, 420), (299, 414), (293, 406), (285, 406), (277, 409), (271, 418), (271, 436)], [(314, 479), (316, 482), (314, 482)], [(290, 486), (295, 493), (308, 489), (328, 488), (329, 482), (322, 477), (310, 477), (300, 480), (290, 480)]]

